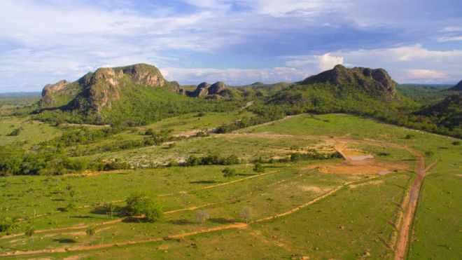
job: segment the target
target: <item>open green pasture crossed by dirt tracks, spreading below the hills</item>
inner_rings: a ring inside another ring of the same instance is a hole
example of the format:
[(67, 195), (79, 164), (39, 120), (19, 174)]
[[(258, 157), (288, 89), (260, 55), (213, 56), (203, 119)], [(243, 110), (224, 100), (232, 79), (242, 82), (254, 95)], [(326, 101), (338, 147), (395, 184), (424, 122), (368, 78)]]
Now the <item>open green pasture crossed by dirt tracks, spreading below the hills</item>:
[[(454, 138), (329, 114), (190, 136), (174, 145), (99, 149), (141, 140), (149, 128), (181, 135), (251, 116), (246, 113), (189, 114), (81, 144), (82, 149), (98, 151), (83, 157), (120, 158), (136, 166), (132, 170), (0, 177), (0, 218), (18, 218), (10, 234), (0, 233), (0, 256), (393, 259), (421, 158), (426, 167), (437, 163), (423, 179), (407, 257), (460, 256), (462, 153)], [(13, 121), (14, 128), (23, 130), (7, 136)], [(2, 118), (0, 144), (23, 145), (19, 142), (25, 140), (30, 146), (69, 129)], [(310, 151), (338, 151), (346, 158), (290, 160), (294, 153)], [(236, 155), (240, 162), (160, 167), (210, 154)], [(349, 157), (362, 154), (373, 158)], [(264, 172), (253, 170), (255, 160), (262, 161)], [(225, 167), (235, 169), (236, 175), (223, 177)], [(162, 207), (162, 219), (151, 223), (127, 217), (125, 200), (132, 193), (153, 198)], [(198, 210), (208, 218), (197, 219)], [(27, 236), (30, 226), (35, 233)], [(94, 235), (87, 235), (90, 227)]]

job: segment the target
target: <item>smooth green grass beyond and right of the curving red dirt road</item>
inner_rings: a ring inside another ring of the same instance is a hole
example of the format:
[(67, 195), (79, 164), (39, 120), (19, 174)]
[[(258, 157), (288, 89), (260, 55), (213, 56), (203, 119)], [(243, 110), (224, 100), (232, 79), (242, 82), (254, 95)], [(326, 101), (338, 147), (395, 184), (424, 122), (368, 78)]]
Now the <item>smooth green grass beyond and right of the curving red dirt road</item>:
[[(246, 130), (243, 130), (244, 132)], [(422, 259), (434, 256), (456, 257), (457, 241), (462, 239), (460, 204), (462, 196), (462, 167), (460, 146), (454, 146), (454, 138), (417, 132), (392, 125), (384, 125), (370, 119), (360, 119), (347, 115), (301, 116), (286, 121), (255, 128), (253, 132), (277, 132), (293, 135), (335, 135), (356, 138), (380, 139), (397, 144), (405, 144), (425, 153), (433, 151), (427, 163), (439, 160), (434, 174), (430, 173), (422, 188), (422, 198), (417, 208), (417, 221), (414, 226), (414, 240), (409, 257)], [(406, 135), (414, 135), (405, 139)], [(430, 208), (430, 210), (428, 210)], [(453, 231), (453, 232), (448, 232)], [(432, 234), (432, 235), (428, 235)]]

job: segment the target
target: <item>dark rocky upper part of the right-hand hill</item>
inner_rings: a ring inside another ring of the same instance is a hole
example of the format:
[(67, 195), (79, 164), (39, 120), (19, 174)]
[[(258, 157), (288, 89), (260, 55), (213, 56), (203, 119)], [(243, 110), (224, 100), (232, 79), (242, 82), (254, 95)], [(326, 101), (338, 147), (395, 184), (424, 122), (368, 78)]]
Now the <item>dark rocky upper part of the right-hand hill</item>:
[(389, 101), (398, 99), (395, 83), (385, 69), (363, 67), (348, 69), (337, 65), (333, 69), (305, 78), (302, 83), (331, 83), (342, 88), (359, 88), (370, 95), (380, 95)]

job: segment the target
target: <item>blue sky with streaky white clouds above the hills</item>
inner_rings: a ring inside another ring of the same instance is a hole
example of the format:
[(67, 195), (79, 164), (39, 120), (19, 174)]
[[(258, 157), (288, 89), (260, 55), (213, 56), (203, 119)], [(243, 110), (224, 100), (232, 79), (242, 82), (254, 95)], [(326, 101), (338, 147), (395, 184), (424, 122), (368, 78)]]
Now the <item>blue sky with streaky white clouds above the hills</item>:
[(0, 93), (148, 63), (169, 81), (300, 81), (346, 67), (462, 79), (460, 0), (1, 0)]

